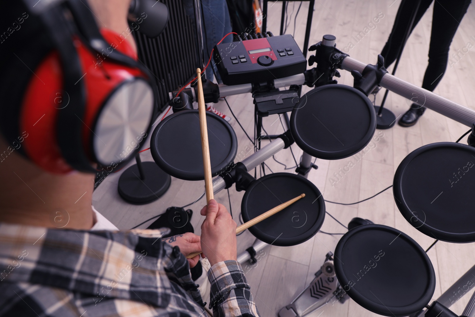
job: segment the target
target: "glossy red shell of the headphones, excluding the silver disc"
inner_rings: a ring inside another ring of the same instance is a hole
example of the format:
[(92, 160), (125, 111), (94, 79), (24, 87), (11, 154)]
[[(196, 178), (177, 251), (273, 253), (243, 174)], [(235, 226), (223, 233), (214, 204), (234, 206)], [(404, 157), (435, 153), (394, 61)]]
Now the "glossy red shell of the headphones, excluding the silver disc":
[[(115, 39), (117, 44), (112, 43), (111, 49), (136, 58), (132, 46), (123, 37), (107, 29), (102, 32), (107, 41), (112, 42), (111, 39)], [(91, 153), (91, 130), (94, 130), (104, 101), (124, 80), (145, 75), (139, 69), (115, 64), (112, 59), (107, 58), (107, 52), (100, 56), (94, 53), (94, 56), (78, 39), (75, 39), (75, 46), (85, 74), (77, 80), (84, 81), (86, 91), (85, 113), (83, 117), (78, 114), (84, 124), (82, 131), (78, 133), (83, 136), (83, 150), (91, 161), (94, 161), (94, 155)], [(68, 173), (72, 168), (62, 157), (56, 139), (58, 112), (69, 106), (69, 96), (61, 90), (63, 74), (57, 52), (50, 53), (34, 73), (36, 76), (30, 78), (20, 113), (20, 131), (28, 133), (28, 138), (24, 139), (25, 152), (34, 163), (48, 172)]]

